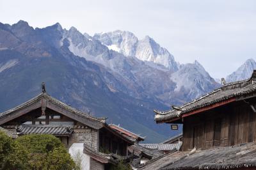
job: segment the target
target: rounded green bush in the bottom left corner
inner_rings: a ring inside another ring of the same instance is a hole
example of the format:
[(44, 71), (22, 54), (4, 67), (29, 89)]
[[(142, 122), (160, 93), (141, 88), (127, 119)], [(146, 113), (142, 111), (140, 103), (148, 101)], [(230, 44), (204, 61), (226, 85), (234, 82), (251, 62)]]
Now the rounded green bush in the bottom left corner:
[(65, 146), (53, 135), (24, 135), (13, 140), (0, 132), (0, 169), (76, 169)]

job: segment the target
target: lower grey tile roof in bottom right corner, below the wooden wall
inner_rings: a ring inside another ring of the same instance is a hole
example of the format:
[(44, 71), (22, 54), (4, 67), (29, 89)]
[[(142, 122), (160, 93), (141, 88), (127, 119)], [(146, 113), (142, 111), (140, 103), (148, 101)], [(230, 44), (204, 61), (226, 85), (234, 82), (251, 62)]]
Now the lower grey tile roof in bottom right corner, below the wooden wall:
[(138, 169), (235, 169), (256, 167), (256, 144), (175, 151), (149, 160)]

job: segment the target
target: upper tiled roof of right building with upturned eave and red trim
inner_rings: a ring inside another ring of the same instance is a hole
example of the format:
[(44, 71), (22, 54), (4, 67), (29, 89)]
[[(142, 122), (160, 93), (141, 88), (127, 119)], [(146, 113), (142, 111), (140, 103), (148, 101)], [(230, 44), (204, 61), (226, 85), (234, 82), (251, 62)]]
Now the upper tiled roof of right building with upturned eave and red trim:
[(256, 70), (253, 71), (252, 77), (244, 81), (231, 82), (224, 84), (221, 88), (215, 89), (211, 93), (197, 98), (188, 104), (180, 107), (173, 106), (169, 111), (157, 111), (155, 120), (157, 123), (170, 122), (178, 120), (184, 114), (207, 111), (244, 98), (253, 97), (256, 93)]

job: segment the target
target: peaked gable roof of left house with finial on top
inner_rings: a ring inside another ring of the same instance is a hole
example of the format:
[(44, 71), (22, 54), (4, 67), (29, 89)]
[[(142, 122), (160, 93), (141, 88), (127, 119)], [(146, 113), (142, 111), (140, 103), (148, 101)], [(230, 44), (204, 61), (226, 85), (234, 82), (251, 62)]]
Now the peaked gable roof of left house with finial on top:
[(69, 118), (72, 118), (83, 123), (84, 125), (87, 125), (88, 127), (95, 129), (102, 128), (106, 121), (105, 118), (95, 118), (85, 112), (77, 111), (77, 109), (64, 104), (60, 100), (51, 97), (47, 93), (40, 93), (40, 95), (31, 98), (27, 102), (24, 102), (23, 104), (20, 104), (8, 111), (0, 113), (0, 125), (3, 125), (3, 123), (13, 120), (40, 107), (47, 107), (56, 112), (60, 112)]

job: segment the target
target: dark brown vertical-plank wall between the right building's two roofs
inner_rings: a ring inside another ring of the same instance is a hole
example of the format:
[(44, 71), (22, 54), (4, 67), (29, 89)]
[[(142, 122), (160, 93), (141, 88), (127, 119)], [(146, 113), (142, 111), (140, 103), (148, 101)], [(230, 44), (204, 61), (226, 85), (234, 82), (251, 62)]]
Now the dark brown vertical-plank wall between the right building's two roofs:
[(256, 113), (250, 105), (240, 102), (190, 116), (184, 121), (183, 141), (186, 150), (256, 142)]

